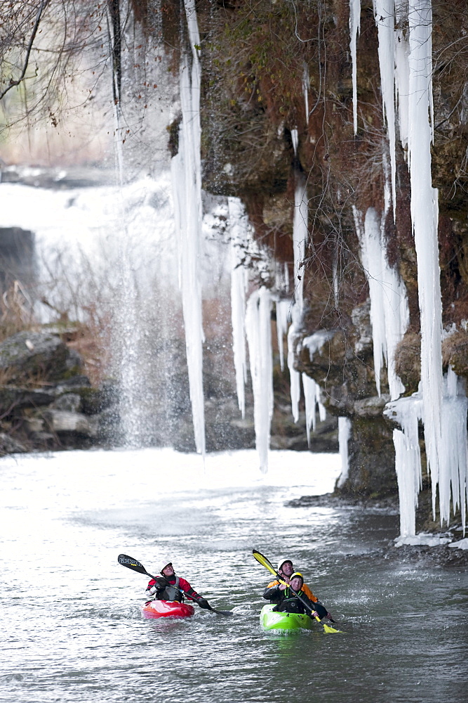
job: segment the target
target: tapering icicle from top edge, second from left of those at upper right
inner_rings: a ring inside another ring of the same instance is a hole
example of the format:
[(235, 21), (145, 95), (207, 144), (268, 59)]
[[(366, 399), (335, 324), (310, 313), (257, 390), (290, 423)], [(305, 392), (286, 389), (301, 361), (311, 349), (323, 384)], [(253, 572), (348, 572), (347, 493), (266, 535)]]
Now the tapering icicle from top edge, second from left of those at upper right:
[(379, 37), (380, 84), (382, 86), (382, 110), (387, 120), (390, 168), (392, 171), (393, 217), (396, 219), (396, 158), (395, 158), (395, 103), (394, 103), (394, 0), (373, 0), (375, 23)]

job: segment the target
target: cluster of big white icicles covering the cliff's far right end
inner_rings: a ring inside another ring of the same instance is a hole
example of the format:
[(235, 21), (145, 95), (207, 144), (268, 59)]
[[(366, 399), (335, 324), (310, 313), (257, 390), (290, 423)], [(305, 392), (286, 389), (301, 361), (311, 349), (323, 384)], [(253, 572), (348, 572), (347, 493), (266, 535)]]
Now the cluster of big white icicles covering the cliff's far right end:
[[(398, 279), (394, 279), (392, 283), (386, 277), (386, 273), (391, 272), (391, 269), (385, 266), (385, 261), (382, 259), (379, 262), (377, 249), (379, 239), (382, 246), (382, 231), (373, 208), (366, 213), (364, 225), (362, 226), (358, 221), (356, 228), (363, 245), (363, 264), (369, 280), (377, 392), (380, 393), (378, 376), (382, 357), (387, 355), (390, 391), (392, 400), (395, 401), (390, 404), (389, 413), (401, 426), (401, 430), (394, 431), (396, 473), (401, 505), (401, 536), (413, 539), (415, 506), (421, 483), (417, 436), (420, 421), (424, 423), (424, 444), (427, 467), (432, 479), (434, 515), (436, 494), (439, 489), (441, 523), (449, 520), (450, 500), (454, 510), (457, 506), (460, 507), (462, 522), (465, 523), (467, 398), (464, 387), (451, 369), (448, 371), (446, 380), (443, 380), (442, 375), (442, 306), (437, 240), (438, 193), (432, 188), (431, 177), (431, 143), (434, 131), (432, 1), (406, 0), (395, 3), (394, 0), (373, 0), (373, 4), (379, 39), (382, 105), (389, 138), (389, 171), (394, 217), (396, 214), (396, 124), (399, 128), (401, 145), (406, 149), (410, 171), (410, 209), (417, 255), (421, 321), (421, 382), (418, 393), (410, 399), (396, 401), (401, 392), (401, 382), (391, 368), (394, 346), (404, 332), (405, 321), (407, 323), (407, 309), (400, 307), (400, 320), (398, 322), (398, 315), (394, 316), (396, 325), (389, 331), (382, 304), (382, 293), (384, 293), (385, 302), (385, 299), (390, 299), (385, 296), (385, 290), (392, 290), (391, 297), (394, 302), (390, 307), (396, 310), (403, 299), (403, 292), (399, 289)], [(359, 0), (350, 0), (349, 28), (353, 77), (356, 75), (355, 45), (359, 31), (356, 20), (358, 8)], [(407, 30), (400, 28), (405, 22), (408, 23)], [(355, 84), (354, 129), (356, 131)], [(386, 184), (385, 213), (388, 206), (389, 193), (387, 193)], [(359, 220), (359, 213), (356, 220)], [(380, 272), (379, 266), (382, 267)], [(385, 320), (384, 328), (382, 328), (382, 320)], [(393, 350), (390, 348), (389, 335), (394, 340)], [(386, 350), (385, 347), (387, 347)]]

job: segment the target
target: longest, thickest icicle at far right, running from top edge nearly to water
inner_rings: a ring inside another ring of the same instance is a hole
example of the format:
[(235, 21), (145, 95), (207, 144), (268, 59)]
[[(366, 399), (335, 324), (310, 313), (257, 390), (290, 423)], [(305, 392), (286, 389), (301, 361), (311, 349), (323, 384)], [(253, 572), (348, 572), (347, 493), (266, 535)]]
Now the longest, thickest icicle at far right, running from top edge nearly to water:
[(442, 311), (437, 241), (437, 191), (431, 180), (432, 6), (431, 0), (409, 0), (408, 165), (411, 219), (417, 255), (417, 288), (421, 315), (421, 382), (424, 440), (432, 479), (435, 515), (439, 480), (442, 405)]

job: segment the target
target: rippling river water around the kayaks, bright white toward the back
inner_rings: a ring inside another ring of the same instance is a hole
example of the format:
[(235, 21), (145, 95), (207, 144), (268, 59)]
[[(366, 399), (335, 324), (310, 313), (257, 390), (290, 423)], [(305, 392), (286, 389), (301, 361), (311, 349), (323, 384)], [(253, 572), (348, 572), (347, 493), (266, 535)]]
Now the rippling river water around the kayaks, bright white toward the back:
[[(172, 450), (63, 452), (0, 461), (1, 703), (461, 703), (468, 579), (385, 560), (382, 510), (288, 508), (333, 489), (334, 455)], [(264, 633), (272, 561), (291, 556), (345, 630)], [(224, 618), (143, 619), (149, 572), (176, 571)]]

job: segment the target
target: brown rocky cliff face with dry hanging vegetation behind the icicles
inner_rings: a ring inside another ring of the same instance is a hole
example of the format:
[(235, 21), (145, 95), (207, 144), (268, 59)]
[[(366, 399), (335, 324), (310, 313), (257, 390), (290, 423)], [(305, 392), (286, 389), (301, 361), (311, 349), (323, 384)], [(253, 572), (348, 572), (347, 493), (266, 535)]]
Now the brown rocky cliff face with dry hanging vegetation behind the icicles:
[[(349, 478), (340, 490), (389, 494), (396, 490), (396, 478), (392, 427), (382, 417), (388, 385), (384, 372), (382, 395), (377, 396), (368, 284), (352, 213), (353, 206), (361, 212), (384, 209), (388, 143), (372, 3), (361, 2), (356, 135), (347, 3), (314, 0), (292, 6), (279, 0), (255, 7), (225, 3), (222, 8), (199, 3), (197, 11), (203, 36), (204, 186), (241, 197), (259, 240), (291, 266), (293, 192), (297, 175), (307, 178), (306, 309), (297, 330), (295, 366), (320, 383), (330, 413), (352, 418)], [(406, 30), (404, 21), (401, 29)], [(464, 376), (467, 30), (465, 3), (434, 6), (432, 181), (439, 188), (443, 324), (457, 329), (444, 342), (443, 361), (445, 370), (451, 363)], [(420, 321), (408, 165), (401, 146), (396, 166), (396, 221), (390, 210), (385, 237), (389, 263), (408, 292), (410, 326), (397, 349), (396, 366), (410, 394), (419, 381)], [(302, 340), (321, 330), (326, 342), (309, 354)]]

